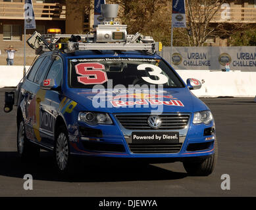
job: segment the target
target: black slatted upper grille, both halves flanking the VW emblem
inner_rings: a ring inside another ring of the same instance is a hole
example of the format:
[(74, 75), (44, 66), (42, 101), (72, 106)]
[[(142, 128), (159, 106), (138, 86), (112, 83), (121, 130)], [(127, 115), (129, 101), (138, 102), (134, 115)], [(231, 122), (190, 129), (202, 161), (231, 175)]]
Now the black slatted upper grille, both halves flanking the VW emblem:
[[(116, 115), (121, 125), (131, 130), (154, 130), (147, 123), (149, 114), (146, 115)], [(163, 114), (159, 115), (162, 124), (159, 129), (163, 130), (180, 130), (186, 128), (190, 119), (189, 114)]]

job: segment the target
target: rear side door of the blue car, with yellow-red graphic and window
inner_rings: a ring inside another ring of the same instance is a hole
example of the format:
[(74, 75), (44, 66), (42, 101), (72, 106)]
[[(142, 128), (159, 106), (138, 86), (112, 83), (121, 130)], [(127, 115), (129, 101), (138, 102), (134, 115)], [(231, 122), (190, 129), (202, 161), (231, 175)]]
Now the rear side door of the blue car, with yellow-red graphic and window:
[(34, 64), (26, 82), (23, 85), (25, 101), (25, 131), (30, 140), (41, 142), (39, 136), (39, 101), (38, 97), (43, 96), (40, 91), (39, 80), (46, 74), (51, 62), (51, 56), (41, 56)]

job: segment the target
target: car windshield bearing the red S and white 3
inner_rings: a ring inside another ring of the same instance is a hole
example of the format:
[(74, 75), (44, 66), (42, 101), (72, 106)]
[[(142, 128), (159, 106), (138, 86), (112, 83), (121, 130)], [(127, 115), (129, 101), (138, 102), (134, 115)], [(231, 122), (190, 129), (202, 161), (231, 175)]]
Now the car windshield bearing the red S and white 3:
[(77, 58), (68, 61), (68, 85), (92, 89), (94, 85), (161, 85), (184, 87), (180, 79), (161, 59), (153, 58)]

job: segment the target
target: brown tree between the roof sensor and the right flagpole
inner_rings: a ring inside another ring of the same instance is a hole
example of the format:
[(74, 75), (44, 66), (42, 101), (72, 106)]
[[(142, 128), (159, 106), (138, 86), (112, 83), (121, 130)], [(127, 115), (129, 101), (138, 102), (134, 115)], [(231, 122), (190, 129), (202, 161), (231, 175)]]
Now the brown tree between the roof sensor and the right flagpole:
[(163, 45), (170, 45), (170, 0), (108, 0), (120, 6), (118, 18), (128, 26), (129, 34), (140, 32), (152, 36)]

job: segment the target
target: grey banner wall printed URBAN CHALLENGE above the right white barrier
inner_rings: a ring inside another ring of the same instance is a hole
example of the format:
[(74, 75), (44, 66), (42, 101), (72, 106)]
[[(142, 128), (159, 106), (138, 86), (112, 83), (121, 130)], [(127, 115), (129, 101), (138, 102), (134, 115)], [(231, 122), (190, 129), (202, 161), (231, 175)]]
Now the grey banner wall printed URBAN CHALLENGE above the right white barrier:
[[(255, 47), (170, 47), (163, 48), (163, 58), (176, 70), (230, 70), (256, 72)], [(171, 57), (171, 61), (170, 61)]]

